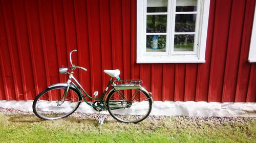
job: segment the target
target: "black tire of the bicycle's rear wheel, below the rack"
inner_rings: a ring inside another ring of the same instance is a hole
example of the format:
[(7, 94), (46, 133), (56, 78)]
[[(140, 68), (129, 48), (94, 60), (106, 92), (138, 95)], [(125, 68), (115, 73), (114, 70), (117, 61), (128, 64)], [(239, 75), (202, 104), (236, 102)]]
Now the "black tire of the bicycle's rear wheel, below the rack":
[(139, 122), (145, 120), (145, 119), (150, 115), (151, 110), (152, 110), (153, 101), (151, 100), (150, 95), (148, 95), (145, 91), (140, 90), (140, 92), (142, 92), (145, 96), (147, 96), (148, 102), (150, 102), (150, 109), (148, 110), (146, 116), (144, 116), (141, 120), (136, 121), (136, 122), (126, 122), (126, 121), (119, 120), (115, 115), (113, 115), (113, 113), (111, 112), (111, 110), (110, 110), (110, 108), (109, 108), (109, 100), (110, 100), (111, 96), (114, 95), (115, 92), (116, 92), (116, 90), (113, 90), (113, 91), (109, 94), (108, 98), (106, 99), (106, 107), (108, 108), (108, 111), (109, 111), (110, 115), (111, 115), (115, 120), (117, 120), (117, 121), (119, 121), (119, 122), (123, 122), (123, 123), (134, 123), (134, 124), (136, 124), (136, 123), (139, 123)]

